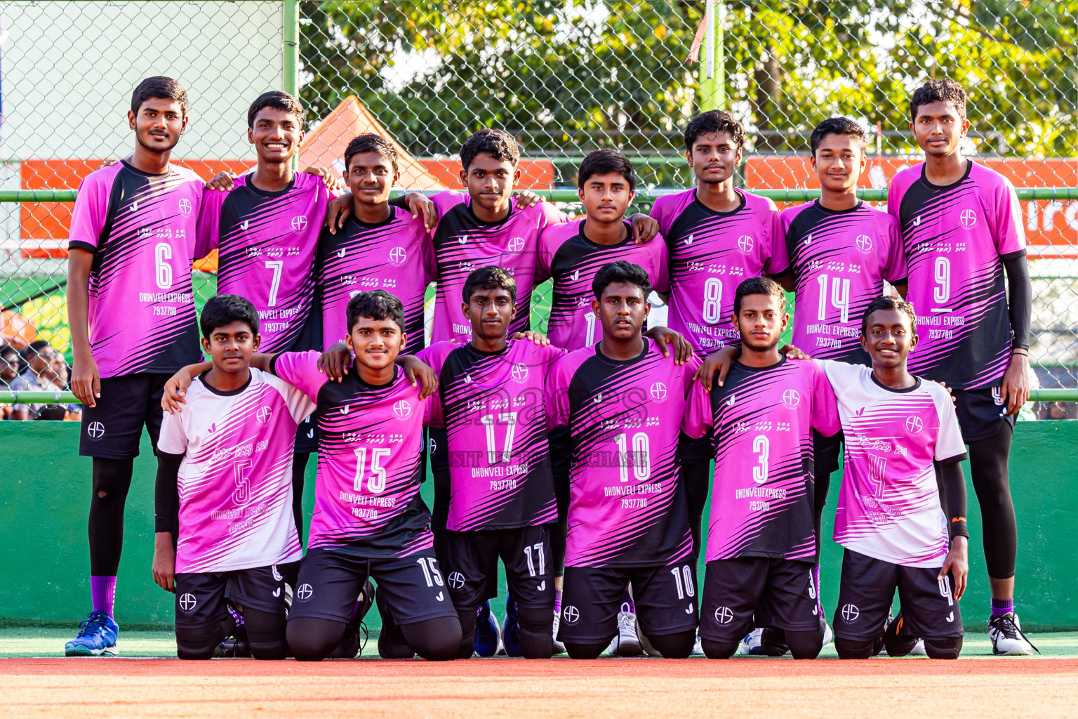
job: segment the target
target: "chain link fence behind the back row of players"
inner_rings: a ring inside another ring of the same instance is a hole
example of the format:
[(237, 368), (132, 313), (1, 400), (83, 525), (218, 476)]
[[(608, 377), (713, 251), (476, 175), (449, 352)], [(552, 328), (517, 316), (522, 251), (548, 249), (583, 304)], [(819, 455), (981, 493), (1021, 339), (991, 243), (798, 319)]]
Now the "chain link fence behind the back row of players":
[[(126, 156), (132, 88), (168, 74), (192, 106), (174, 156), (207, 178), (253, 165), (246, 108), (284, 86), (308, 109), (303, 165), (342, 169), (348, 140), (374, 130), (402, 150), (407, 188), (459, 189), (462, 141), (501, 127), (524, 148), (522, 184), (570, 211), (577, 167), (599, 148), (630, 156), (641, 209), (688, 186), (681, 128), (710, 107), (749, 133), (741, 183), (801, 201), (816, 186), (808, 134), (844, 114), (873, 136), (862, 180), (866, 197), (882, 201), (895, 171), (920, 160), (910, 93), (950, 77), (970, 94), (965, 151), (1027, 189), (1031, 358), (1040, 387), (1073, 389), (1078, 191), (1052, 189), (1078, 188), (1076, 20), (1074, 0), (0, 2), (0, 198), (73, 189), (102, 160)], [(0, 205), (3, 333), (24, 352), (34, 340), (69, 351), (70, 207)], [(215, 286), (196, 272), (203, 300)], [(1034, 412), (1075, 414), (1069, 404)]]

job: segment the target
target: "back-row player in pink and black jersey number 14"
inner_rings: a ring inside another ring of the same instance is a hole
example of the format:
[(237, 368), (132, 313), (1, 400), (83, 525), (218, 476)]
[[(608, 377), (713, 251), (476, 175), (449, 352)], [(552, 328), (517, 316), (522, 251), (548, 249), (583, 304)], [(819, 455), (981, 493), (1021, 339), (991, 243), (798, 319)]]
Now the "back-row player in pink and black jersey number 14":
[[(858, 342), (859, 318), (883, 294), (884, 281), (907, 279), (898, 222), (857, 198), (857, 181), (868, 164), (867, 141), (865, 130), (848, 117), (825, 120), (812, 132), (812, 166), (820, 196), (783, 211), (790, 271), (775, 278), (797, 293), (792, 344), (818, 359), (862, 365), (869, 356)], [(841, 442), (841, 432), (833, 438), (813, 433), (817, 554)], [(818, 565), (813, 579), (818, 587)]]

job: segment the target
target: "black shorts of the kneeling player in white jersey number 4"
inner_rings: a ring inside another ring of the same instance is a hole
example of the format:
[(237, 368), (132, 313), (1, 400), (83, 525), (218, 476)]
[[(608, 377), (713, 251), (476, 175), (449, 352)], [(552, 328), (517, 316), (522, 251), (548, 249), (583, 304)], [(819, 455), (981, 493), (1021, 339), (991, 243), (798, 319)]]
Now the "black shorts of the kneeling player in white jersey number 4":
[(958, 602), (951, 596), (951, 577), (940, 581), (939, 571), (939, 567), (906, 567), (846, 550), (842, 557), (839, 606), (831, 624), (834, 636), (879, 638), (897, 589), (902, 618), (913, 636), (960, 637), (962, 613)]

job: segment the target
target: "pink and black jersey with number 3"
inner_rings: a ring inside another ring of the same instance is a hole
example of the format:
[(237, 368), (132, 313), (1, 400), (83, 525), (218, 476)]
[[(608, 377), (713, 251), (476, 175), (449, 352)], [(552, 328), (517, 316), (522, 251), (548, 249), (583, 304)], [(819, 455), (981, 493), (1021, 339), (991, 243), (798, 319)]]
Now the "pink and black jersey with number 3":
[(816, 559), (812, 430), (839, 431), (824, 371), (785, 357), (763, 368), (734, 362), (710, 395), (697, 384), (685, 431), (715, 437), (707, 561)]

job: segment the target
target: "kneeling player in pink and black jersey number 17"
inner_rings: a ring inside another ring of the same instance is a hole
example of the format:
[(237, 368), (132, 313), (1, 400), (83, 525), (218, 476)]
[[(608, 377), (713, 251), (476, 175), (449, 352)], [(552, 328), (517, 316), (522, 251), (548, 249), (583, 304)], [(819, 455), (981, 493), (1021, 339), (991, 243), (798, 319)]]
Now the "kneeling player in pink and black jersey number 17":
[[(547, 371), (564, 350), (507, 340), (516, 282), (500, 267), (468, 276), (471, 342), (440, 342), (418, 358), (439, 374), (431, 426), (447, 430), (450, 595), (472, 655), (476, 610), (498, 595), (498, 557), (520, 626), (507, 653), (550, 658), (554, 582), (550, 524), (557, 518), (545, 426)], [(479, 430), (479, 427), (483, 430)], [(505, 637), (507, 645), (512, 638)]]

